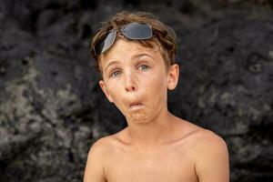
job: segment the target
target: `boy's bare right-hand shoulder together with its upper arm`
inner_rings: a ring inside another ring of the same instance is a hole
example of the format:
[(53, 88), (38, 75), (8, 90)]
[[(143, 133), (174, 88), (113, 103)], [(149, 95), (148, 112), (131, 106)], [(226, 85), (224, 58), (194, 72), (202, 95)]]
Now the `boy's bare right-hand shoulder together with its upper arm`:
[(229, 159), (225, 140), (213, 131), (181, 120), (182, 137), (188, 155), (193, 159), (195, 172), (200, 182), (229, 181)]

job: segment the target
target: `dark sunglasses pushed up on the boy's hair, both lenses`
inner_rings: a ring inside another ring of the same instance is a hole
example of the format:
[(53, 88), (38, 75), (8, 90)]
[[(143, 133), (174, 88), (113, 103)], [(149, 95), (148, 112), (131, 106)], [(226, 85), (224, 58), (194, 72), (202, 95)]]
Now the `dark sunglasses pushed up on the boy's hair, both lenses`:
[[(123, 25), (120, 31), (122, 35), (133, 40), (147, 40), (153, 36), (153, 28), (151, 25), (136, 22)], [(106, 50), (115, 43), (116, 33), (115, 29), (111, 30), (109, 34), (106, 35), (106, 39), (95, 46), (96, 56), (106, 52)]]

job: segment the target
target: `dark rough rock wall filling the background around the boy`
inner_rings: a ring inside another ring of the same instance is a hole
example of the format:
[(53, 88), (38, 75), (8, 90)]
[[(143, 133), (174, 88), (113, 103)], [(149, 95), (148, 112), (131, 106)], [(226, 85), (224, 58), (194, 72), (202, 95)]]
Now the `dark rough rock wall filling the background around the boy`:
[(231, 181), (273, 179), (268, 0), (1, 0), (0, 182), (78, 182), (97, 138), (126, 126), (89, 41), (108, 15), (149, 11), (177, 32), (170, 110), (227, 141)]

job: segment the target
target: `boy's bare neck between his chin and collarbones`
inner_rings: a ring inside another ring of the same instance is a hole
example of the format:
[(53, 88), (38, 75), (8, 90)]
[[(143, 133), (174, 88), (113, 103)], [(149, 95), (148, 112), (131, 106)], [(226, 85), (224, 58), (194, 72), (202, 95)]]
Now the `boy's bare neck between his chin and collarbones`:
[(173, 120), (168, 111), (155, 116), (145, 124), (128, 121), (127, 134), (134, 145), (151, 146), (164, 144), (173, 133)]

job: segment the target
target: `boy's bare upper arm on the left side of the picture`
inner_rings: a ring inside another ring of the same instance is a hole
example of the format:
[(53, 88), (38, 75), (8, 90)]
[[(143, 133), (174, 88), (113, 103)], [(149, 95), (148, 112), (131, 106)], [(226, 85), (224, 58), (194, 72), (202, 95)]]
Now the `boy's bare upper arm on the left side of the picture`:
[(106, 147), (101, 139), (90, 148), (86, 161), (84, 182), (105, 182), (104, 157)]

